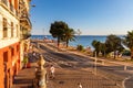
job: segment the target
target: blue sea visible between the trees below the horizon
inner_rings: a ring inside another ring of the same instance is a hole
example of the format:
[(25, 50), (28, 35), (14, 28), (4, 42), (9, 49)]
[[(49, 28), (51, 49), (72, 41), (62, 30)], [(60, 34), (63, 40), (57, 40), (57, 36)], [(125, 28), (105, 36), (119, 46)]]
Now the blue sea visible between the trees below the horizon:
[[(122, 37), (123, 35), (119, 35), (119, 36)], [(44, 37), (57, 41), (57, 38), (53, 38), (52, 35), (31, 35), (31, 38), (43, 40)], [(78, 46), (80, 44), (80, 45), (83, 45), (84, 48), (91, 47), (93, 50), (92, 42), (94, 40), (104, 43), (106, 40), (106, 35), (76, 35), (75, 41), (70, 42), (69, 45)]]

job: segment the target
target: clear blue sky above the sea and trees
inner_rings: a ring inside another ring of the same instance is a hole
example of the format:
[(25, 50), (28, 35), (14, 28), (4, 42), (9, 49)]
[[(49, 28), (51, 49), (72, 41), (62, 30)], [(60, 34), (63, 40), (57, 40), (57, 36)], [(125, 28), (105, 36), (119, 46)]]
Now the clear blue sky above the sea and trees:
[(133, 30), (133, 0), (32, 0), (32, 34), (48, 35), (63, 21), (82, 35), (126, 34)]

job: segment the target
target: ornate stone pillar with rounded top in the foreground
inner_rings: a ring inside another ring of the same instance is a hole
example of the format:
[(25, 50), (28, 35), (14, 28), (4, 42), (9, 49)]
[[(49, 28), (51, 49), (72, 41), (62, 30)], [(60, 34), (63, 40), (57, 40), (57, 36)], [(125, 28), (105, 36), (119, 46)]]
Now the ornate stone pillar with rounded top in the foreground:
[(40, 59), (38, 61), (38, 69), (35, 72), (35, 88), (47, 88), (47, 70), (43, 67), (45, 61), (43, 56), (40, 55)]

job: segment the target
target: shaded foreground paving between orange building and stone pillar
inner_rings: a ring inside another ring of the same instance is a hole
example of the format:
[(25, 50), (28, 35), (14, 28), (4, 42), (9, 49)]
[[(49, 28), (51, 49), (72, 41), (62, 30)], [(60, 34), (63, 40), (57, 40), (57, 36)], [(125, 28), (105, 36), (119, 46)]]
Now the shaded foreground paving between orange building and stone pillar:
[(33, 79), (35, 78), (37, 63), (31, 63), (30, 68), (24, 68), (14, 77), (12, 88), (32, 88)]

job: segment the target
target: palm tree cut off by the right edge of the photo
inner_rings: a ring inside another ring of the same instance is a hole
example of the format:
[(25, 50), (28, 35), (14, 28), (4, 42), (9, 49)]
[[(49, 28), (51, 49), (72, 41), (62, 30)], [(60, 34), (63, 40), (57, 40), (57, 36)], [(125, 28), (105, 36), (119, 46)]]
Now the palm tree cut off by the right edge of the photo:
[(125, 40), (124, 40), (124, 45), (126, 45), (130, 51), (131, 51), (131, 59), (133, 59), (133, 31), (129, 31)]

